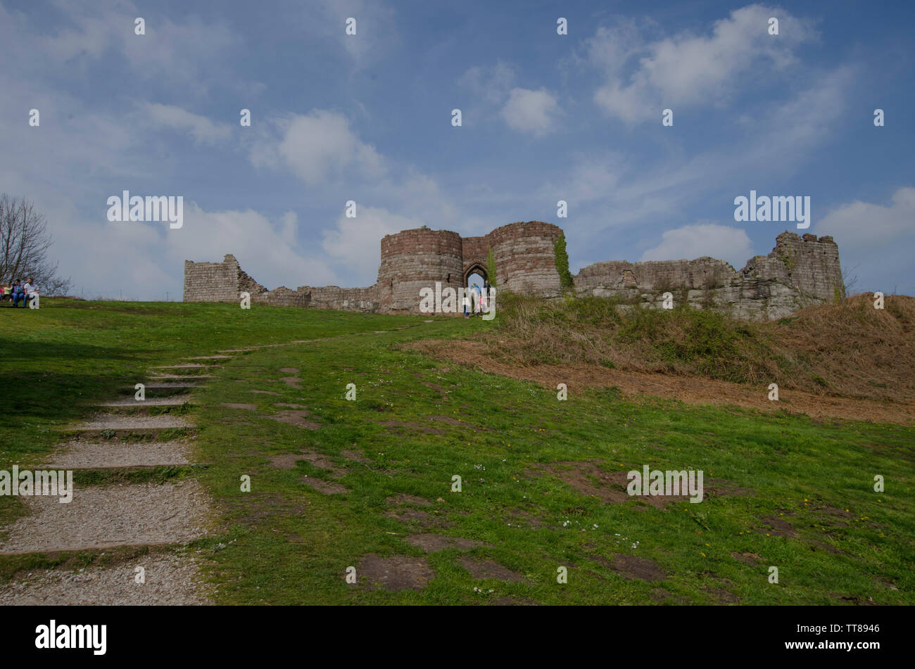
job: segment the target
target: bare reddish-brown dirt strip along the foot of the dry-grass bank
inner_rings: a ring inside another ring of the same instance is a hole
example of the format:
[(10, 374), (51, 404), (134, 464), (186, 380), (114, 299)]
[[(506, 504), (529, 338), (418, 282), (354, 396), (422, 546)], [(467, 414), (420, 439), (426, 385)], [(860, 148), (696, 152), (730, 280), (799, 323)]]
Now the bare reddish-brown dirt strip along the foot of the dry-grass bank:
[(554, 389), (557, 384), (565, 383), (570, 393), (582, 388), (616, 386), (624, 397), (653, 395), (691, 404), (732, 405), (773, 412), (787, 410), (815, 419), (915, 424), (915, 404), (910, 402), (883, 403), (872, 399), (836, 398), (790, 388), (781, 388), (779, 400), (770, 401), (766, 386), (755, 388), (711, 378), (672, 377), (585, 364), (511, 366), (487, 356), (483, 345), (472, 341), (424, 339), (410, 345), (410, 348), (455, 365), (474, 366), (503, 377), (534, 381), (546, 388)]

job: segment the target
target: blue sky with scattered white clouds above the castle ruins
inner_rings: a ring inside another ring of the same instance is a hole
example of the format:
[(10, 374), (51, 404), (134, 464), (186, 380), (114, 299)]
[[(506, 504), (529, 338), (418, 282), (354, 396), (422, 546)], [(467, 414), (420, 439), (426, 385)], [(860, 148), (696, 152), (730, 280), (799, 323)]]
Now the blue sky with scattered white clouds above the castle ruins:
[[(93, 298), (180, 299), (225, 253), (371, 285), (387, 233), (518, 220), (564, 228), (573, 271), (829, 234), (856, 292), (915, 294), (915, 8), (867, 6), (0, 0), (0, 192)], [(810, 196), (811, 227), (736, 222), (751, 189)], [(123, 190), (183, 196), (183, 228), (109, 222)]]

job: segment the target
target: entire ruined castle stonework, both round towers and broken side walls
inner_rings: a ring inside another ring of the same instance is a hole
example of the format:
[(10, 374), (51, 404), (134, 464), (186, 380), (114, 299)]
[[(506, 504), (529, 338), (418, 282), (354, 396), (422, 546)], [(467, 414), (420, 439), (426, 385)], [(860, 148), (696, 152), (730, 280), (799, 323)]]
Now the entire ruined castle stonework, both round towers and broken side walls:
[[(362, 313), (419, 313), (419, 292), (466, 286), (478, 272), (498, 291), (544, 298), (562, 290), (555, 267), (554, 242), (562, 228), (542, 221), (511, 223), (482, 237), (462, 238), (450, 230), (414, 228), (382, 238), (378, 281), (366, 288), (280, 286), (268, 291), (254, 281), (238, 260), (184, 263), (185, 302), (239, 302), (248, 292), (252, 303), (335, 309)], [(487, 275), (492, 251), (497, 276)], [(768, 256), (755, 256), (741, 271), (724, 260), (608, 260), (583, 268), (574, 279), (581, 295), (616, 297), (628, 303), (660, 306), (664, 292), (674, 302), (711, 308), (739, 318), (780, 318), (813, 303), (844, 296), (839, 250), (833, 238), (800, 237), (782, 232)]]

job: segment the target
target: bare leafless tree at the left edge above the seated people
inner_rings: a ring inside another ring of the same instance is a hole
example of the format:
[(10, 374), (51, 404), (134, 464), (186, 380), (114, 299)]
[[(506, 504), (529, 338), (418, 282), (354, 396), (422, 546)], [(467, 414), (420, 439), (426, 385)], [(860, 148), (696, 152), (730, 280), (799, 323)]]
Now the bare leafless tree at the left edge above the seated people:
[(43, 294), (69, 292), (70, 279), (61, 279), (58, 263), (48, 259), (52, 243), (48, 221), (32, 202), (0, 195), (0, 281), (32, 277)]

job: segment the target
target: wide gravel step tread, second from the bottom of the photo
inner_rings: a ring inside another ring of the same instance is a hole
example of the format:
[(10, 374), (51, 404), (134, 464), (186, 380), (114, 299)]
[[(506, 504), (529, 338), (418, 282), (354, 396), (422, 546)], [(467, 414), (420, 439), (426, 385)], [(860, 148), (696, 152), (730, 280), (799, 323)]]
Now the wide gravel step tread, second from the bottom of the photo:
[(194, 480), (74, 488), (69, 504), (21, 497), (30, 513), (6, 527), (0, 555), (187, 544), (207, 532), (209, 500)]

